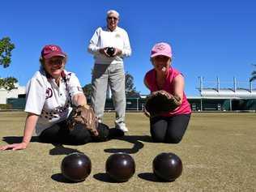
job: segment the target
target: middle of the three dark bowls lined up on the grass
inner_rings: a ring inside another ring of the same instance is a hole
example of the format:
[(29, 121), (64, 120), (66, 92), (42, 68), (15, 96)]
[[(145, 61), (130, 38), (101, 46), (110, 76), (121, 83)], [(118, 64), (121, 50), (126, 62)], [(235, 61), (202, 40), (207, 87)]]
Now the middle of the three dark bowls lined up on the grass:
[(105, 165), (106, 173), (114, 181), (128, 181), (135, 173), (134, 159), (126, 153), (116, 153), (109, 156)]

